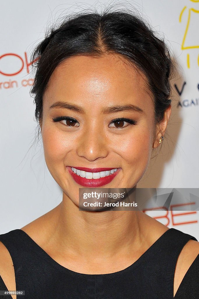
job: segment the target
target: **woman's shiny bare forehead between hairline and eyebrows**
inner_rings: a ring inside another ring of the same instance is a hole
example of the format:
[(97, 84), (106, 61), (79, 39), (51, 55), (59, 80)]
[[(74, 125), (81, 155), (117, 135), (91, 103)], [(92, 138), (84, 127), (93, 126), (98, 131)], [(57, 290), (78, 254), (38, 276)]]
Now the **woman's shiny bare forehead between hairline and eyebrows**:
[(146, 95), (147, 79), (141, 71), (116, 55), (73, 56), (58, 65), (50, 77), (50, 93)]

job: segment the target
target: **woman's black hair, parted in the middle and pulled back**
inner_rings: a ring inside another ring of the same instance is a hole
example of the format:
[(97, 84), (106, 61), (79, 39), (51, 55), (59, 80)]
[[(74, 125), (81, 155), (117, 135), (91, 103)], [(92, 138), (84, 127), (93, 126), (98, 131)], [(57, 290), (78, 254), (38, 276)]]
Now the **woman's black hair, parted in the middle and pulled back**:
[(32, 61), (36, 60), (36, 74), (31, 93), (37, 122), (42, 121), (42, 98), (55, 68), (74, 55), (100, 57), (104, 54), (117, 54), (145, 74), (153, 94), (155, 123), (162, 120), (171, 104), (170, 77), (174, 70), (168, 47), (140, 16), (106, 10), (67, 16), (36, 47), (32, 55)]

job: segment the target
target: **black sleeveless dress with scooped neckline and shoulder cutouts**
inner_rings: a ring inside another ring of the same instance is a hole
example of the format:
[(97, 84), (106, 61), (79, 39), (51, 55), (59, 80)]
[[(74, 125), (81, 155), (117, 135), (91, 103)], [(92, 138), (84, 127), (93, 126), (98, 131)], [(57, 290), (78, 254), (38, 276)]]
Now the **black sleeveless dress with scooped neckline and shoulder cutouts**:
[[(190, 239), (196, 240), (170, 228), (126, 269), (81, 274), (58, 264), (20, 229), (0, 235), (13, 260), (16, 290), (25, 291), (17, 299), (199, 299), (199, 255), (173, 297), (175, 265)], [(1, 276), (0, 290), (7, 290)]]

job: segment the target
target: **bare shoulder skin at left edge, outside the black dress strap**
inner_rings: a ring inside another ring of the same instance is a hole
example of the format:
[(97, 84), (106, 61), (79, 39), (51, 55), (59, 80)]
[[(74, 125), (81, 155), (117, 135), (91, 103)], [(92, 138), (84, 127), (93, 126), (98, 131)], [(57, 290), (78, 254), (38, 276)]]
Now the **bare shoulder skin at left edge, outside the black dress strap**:
[[(0, 275), (9, 291), (16, 291), (15, 272), (9, 251), (0, 241)], [(16, 299), (16, 295), (12, 296)]]

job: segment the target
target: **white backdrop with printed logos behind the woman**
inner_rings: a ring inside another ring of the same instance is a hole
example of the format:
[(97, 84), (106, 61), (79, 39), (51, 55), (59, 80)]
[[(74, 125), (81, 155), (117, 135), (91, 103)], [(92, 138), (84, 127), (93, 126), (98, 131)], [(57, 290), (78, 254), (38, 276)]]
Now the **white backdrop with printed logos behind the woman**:
[[(52, 20), (64, 13), (88, 9), (91, 4), (95, 7), (114, 4), (116, 8), (129, 9), (134, 5), (148, 17), (154, 30), (165, 36), (180, 65), (178, 78), (172, 83), (172, 116), (167, 135), (138, 187), (199, 187), (199, 0), (3, 1), (0, 10), (0, 234), (23, 227), (62, 200), (62, 190), (45, 165), (42, 146), (34, 144), (36, 121), (33, 98), (29, 95), (30, 54)], [(162, 213), (148, 214), (155, 217)], [(167, 217), (158, 220), (199, 239), (197, 211), (181, 216), (169, 211)]]

